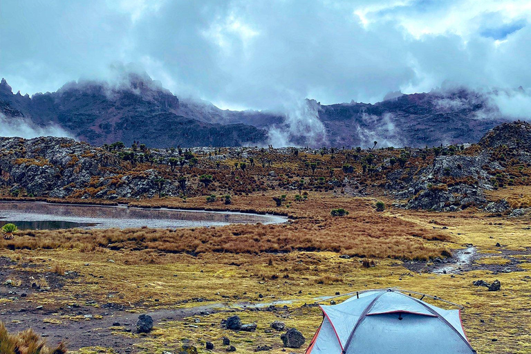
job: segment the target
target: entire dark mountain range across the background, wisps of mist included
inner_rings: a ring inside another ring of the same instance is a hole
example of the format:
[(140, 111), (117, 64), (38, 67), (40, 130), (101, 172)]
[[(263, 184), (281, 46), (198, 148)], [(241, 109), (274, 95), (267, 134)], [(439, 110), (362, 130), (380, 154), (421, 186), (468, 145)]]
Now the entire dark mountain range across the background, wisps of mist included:
[[(135, 140), (151, 147), (299, 145), (424, 147), (477, 142), (509, 121), (484, 93), (454, 89), (402, 95), (375, 104), (320, 104), (286, 113), (229, 111), (179, 99), (147, 74), (120, 83), (80, 81), (32, 97), (0, 83), (0, 113), (39, 127), (55, 124), (93, 145)], [(281, 139), (277, 139), (277, 136)]]

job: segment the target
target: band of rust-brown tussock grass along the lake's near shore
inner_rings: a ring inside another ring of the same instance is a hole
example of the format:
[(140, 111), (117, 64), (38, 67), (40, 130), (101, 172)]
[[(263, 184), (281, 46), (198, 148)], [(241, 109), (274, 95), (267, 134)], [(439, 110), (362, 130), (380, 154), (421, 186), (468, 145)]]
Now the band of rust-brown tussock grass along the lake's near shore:
[[(449, 254), (443, 242), (438, 242), (449, 241), (451, 237), (448, 234), (384, 212), (375, 212), (374, 203), (368, 198), (310, 198), (312, 201), (292, 207), (290, 212), (297, 218), (288, 225), (229, 225), (180, 230), (21, 231), (16, 239), (0, 241), (0, 248), (66, 248), (83, 252), (108, 248), (187, 254), (333, 251), (358, 257), (393, 259), (431, 259)], [(243, 205), (248, 207), (247, 201), (254, 202), (254, 211), (267, 212), (270, 209), (268, 196), (242, 196), (230, 207), (243, 209)], [(189, 204), (201, 205), (199, 203), (193, 201)], [(203, 200), (201, 203), (205, 205), (206, 202)], [(351, 205), (348, 216), (336, 218), (326, 212), (334, 205), (347, 204)], [(227, 206), (223, 204), (223, 208)]]

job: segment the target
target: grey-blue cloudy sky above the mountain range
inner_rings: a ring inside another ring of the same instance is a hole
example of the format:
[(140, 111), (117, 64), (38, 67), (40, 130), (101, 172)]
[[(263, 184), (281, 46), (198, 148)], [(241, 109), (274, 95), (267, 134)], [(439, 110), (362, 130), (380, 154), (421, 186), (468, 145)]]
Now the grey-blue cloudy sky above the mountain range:
[(132, 63), (233, 109), (531, 89), (530, 21), (529, 0), (0, 0), (0, 75), (31, 95)]

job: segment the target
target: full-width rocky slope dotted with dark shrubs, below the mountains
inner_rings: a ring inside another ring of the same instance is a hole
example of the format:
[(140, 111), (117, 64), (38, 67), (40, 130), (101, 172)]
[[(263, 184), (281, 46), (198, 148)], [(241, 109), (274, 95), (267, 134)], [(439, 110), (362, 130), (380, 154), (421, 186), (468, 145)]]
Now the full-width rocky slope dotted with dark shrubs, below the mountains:
[(504, 212), (510, 205), (489, 203), (485, 191), (516, 185), (531, 185), (531, 124), (526, 122), (501, 124), (475, 145), (429, 149), (127, 149), (68, 138), (0, 138), (0, 194), (12, 196), (112, 200), (225, 198), (272, 190), (386, 193), (411, 209)]

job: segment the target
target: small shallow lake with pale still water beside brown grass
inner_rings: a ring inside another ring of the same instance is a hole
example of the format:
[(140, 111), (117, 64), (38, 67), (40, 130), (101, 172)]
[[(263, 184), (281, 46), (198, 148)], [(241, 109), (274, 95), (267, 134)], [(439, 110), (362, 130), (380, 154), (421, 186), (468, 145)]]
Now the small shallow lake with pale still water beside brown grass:
[(73, 227), (179, 228), (223, 226), (233, 223), (285, 223), (288, 218), (270, 214), (209, 212), (184, 209), (144, 209), (127, 205), (102, 206), (46, 202), (0, 201), (0, 226), (14, 223), (21, 230), (57, 230)]

